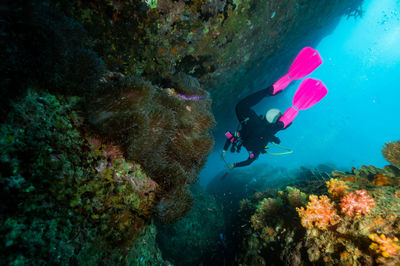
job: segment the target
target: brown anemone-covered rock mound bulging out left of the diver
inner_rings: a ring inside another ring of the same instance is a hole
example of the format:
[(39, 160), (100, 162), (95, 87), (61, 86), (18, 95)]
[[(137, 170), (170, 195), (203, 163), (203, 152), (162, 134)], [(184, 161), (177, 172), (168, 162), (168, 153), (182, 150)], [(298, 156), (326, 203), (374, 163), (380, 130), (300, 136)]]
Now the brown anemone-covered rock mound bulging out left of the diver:
[(215, 123), (211, 100), (198, 82), (184, 74), (173, 80), (168, 89), (135, 76), (108, 81), (104, 95), (87, 106), (95, 131), (121, 146), (159, 184), (155, 209), (162, 222), (190, 210), (189, 188), (212, 149), (209, 130)]

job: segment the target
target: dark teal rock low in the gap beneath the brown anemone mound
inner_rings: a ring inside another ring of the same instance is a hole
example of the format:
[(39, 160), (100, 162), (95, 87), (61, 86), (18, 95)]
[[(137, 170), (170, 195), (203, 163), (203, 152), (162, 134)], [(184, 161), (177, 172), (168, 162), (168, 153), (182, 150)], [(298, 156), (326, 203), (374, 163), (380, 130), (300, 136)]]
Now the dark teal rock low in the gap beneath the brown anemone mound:
[(191, 191), (195, 199), (192, 210), (173, 225), (157, 226), (157, 243), (164, 258), (174, 265), (211, 265), (215, 263), (212, 254), (222, 248), (222, 212), (199, 184)]

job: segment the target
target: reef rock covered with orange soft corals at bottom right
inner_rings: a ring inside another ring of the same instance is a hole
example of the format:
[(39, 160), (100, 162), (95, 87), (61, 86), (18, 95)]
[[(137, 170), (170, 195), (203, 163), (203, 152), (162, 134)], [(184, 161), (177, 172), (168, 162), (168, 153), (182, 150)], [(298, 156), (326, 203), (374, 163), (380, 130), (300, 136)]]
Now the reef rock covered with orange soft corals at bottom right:
[[(269, 192), (268, 201), (283, 201), (279, 215), (259, 215), (265, 198), (253, 207), (254, 214), (248, 219), (251, 227), (245, 232), (244, 253), (238, 263), (398, 265), (400, 172), (391, 166), (362, 166), (351, 173), (334, 171), (331, 176), (336, 180), (315, 180), (313, 189), (305, 187), (308, 193), (320, 196), (310, 195), (310, 202), (297, 207), (299, 215), (290, 204), (292, 188), (275, 191), (275, 197)], [(383, 176), (385, 184), (373, 182)], [(325, 183), (327, 187), (322, 186)], [(334, 187), (340, 187), (341, 192), (332, 193)], [(335, 196), (333, 201), (323, 195), (327, 189)], [(348, 193), (342, 193), (343, 189)], [(333, 220), (329, 218), (332, 214)], [(310, 222), (305, 218), (311, 218)]]

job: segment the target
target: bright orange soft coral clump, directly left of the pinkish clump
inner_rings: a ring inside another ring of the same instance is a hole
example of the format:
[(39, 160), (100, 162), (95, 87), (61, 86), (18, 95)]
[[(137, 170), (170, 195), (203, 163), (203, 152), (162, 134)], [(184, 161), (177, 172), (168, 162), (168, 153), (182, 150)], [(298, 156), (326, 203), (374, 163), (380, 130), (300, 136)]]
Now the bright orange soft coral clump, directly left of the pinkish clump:
[(296, 208), (301, 218), (301, 224), (305, 228), (313, 228), (314, 226), (324, 230), (329, 225), (337, 224), (340, 217), (337, 215), (334, 204), (326, 196), (310, 195), (310, 202), (307, 203), (306, 209), (303, 207)]

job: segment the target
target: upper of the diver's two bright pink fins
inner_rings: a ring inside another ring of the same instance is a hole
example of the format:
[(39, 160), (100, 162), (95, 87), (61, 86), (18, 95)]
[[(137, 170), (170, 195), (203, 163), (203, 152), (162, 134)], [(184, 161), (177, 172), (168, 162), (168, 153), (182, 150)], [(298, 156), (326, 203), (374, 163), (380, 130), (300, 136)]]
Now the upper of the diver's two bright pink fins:
[(272, 85), (274, 87), (273, 94), (286, 88), (292, 80), (304, 78), (321, 64), (322, 59), (318, 51), (311, 47), (304, 47), (290, 66), (289, 73)]

